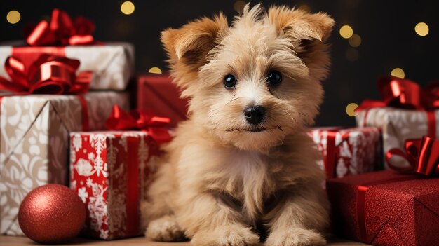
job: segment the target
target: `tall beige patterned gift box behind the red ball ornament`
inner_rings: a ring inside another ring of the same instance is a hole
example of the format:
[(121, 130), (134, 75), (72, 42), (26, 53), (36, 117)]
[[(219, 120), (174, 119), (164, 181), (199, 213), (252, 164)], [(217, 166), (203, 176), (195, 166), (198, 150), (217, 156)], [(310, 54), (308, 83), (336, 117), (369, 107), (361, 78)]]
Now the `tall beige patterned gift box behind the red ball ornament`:
[(23, 235), (18, 207), (32, 189), (67, 184), (69, 132), (102, 130), (128, 94), (4, 96), (0, 105), (0, 234)]

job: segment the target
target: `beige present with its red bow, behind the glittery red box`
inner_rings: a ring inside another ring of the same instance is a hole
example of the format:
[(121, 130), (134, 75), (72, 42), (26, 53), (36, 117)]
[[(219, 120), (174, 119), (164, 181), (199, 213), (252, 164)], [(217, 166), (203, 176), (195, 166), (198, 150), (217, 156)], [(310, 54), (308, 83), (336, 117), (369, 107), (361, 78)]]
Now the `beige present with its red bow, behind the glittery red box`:
[(361, 127), (381, 128), (384, 153), (404, 149), (405, 139), (439, 136), (439, 97), (434, 94), (439, 90), (433, 89), (438, 83), (421, 88), (413, 81), (386, 76), (378, 85), (384, 100), (363, 102), (356, 121)]

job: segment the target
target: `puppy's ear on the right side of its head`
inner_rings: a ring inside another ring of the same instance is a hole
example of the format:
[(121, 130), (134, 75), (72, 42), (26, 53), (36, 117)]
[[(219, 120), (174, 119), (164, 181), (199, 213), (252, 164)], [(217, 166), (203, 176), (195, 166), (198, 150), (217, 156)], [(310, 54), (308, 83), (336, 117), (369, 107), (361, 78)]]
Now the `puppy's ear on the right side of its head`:
[(330, 36), (334, 20), (326, 13), (307, 13), (285, 6), (269, 8), (266, 19), (279, 36), (286, 37), (295, 46), (295, 52), (302, 60), (311, 53), (323, 51), (323, 44)]

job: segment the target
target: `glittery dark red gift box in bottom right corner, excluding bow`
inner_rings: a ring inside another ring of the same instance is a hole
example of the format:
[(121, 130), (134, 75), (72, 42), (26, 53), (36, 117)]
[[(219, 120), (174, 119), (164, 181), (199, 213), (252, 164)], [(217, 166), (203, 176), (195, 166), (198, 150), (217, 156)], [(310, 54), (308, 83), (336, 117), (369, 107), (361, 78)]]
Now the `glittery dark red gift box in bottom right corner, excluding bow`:
[(392, 170), (327, 180), (336, 235), (371, 245), (439, 245), (439, 178)]

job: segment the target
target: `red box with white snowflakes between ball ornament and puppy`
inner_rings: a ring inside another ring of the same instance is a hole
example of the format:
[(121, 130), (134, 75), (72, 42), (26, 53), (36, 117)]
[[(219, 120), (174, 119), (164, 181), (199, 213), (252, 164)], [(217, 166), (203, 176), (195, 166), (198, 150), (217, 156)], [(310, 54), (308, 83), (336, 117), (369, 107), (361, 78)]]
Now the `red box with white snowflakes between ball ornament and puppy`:
[(140, 235), (140, 200), (160, 154), (147, 132), (72, 132), (71, 187), (86, 203), (83, 234), (105, 240)]

